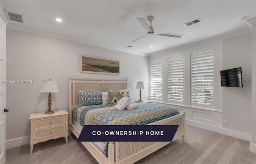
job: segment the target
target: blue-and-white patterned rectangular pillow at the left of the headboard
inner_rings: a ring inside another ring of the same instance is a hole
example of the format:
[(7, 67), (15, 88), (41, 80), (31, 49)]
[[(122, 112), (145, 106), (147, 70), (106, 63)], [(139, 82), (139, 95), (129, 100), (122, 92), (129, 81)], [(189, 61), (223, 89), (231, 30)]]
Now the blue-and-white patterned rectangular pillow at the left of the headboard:
[(80, 106), (102, 104), (101, 92), (84, 92), (80, 90), (78, 94)]

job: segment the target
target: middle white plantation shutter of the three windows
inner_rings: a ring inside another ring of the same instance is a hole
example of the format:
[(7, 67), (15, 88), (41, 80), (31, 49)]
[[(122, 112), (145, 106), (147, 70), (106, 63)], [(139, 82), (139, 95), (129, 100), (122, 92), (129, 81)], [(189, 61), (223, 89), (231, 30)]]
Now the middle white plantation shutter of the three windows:
[(184, 101), (184, 56), (168, 58), (168, 101)]

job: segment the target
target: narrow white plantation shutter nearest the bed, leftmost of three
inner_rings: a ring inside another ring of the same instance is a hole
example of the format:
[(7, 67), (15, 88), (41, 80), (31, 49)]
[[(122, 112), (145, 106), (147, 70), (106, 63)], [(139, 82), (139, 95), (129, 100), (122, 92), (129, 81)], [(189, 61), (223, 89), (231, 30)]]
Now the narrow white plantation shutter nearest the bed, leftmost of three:
[(150, 62), (150, 100), (162, 100), (162, 60)]

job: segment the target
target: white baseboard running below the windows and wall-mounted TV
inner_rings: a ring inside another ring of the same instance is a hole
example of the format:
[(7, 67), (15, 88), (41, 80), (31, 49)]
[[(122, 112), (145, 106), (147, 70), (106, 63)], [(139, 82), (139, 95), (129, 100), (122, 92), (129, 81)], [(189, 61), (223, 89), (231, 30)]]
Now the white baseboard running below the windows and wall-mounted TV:
[[(226, 135), (226, 136), (239, 138), (241, 140), (251, 141), (251, 134), (246, 134), (246, 133), (243, 133), (243, 132), (238, 132), (238, 131), (235, 131), (235, 130), (222, 128), (221, 126), (205, 124), (205, 123), (202, 123), (202, 122), (197, 122), (197, 121), (188, 120), (188, 119), (186, 119), (186, 124), (196, 126), (198, 128), (206, 129), (206, 130), (211, 130), (211, 131), (214, 131), (214, 132)], [(256, 151), (256, 149), (255, 149), (255, 151)]]

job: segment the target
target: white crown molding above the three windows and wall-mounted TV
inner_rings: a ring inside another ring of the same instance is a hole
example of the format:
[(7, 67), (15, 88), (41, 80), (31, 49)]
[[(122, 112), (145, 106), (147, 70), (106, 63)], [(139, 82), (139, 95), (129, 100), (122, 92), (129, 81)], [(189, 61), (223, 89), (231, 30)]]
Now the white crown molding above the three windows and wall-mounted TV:
[(197, 46), (202, 46), (202, 45), (206, 45), (206, 44), (214, 44), (214, 43), (219, 44), (218, 42), (220, 42), (222, 40), (235, 38), (235, 37), (243, 36), (243, 35), (247, 35), (247, 34), (252, 34), (252, 31), (250, 30), (250, 31), (244, 31), (244, 32), (235, 33), (235, 34), (217, 36), (215, 38), (210, 38), (210, 39), (202, 40), (202, 41), (199, 41), (199, 42), (194, 42), (194, 43), (178, 46), (178, 47), (175, 47), (175, 48), (170, 48), (170, 49), (167, 49), (167, 50), (154, 52), (152, 54), (149, 54), (149, 58), (160, 57), (160, 56), (164, 56), (166, 54), (170, 54), (172, 52), (178, 52), (180, 50), (193, 48), (193, 47), (197, 47)]

